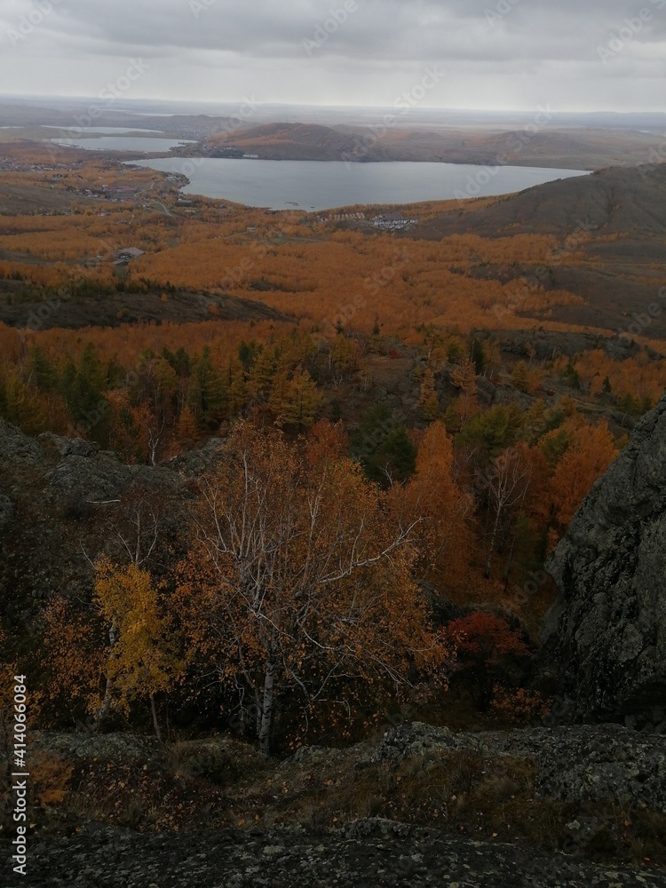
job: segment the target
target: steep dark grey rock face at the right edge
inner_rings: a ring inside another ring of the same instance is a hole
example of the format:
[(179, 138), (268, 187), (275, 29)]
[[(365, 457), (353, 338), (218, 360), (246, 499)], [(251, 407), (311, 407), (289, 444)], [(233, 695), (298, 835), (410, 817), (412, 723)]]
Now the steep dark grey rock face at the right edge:
[(666, 730), (666, 397), (584, 500), (547, 568), (540, 683), (576, 720)]

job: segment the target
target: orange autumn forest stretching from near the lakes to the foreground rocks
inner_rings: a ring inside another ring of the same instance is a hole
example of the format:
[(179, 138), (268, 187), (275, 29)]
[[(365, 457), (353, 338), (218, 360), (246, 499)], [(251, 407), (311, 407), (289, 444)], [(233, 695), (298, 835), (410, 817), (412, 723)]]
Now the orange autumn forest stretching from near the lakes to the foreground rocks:
[[(647, 308), (619, 329), (565, 271), (606, 274), (633, 234), (481, 235), (468, 218), (496, 199), (416, 204), (394, 234), (184, 206), (181, 183), (75, 149), (0, 155), (0, 438), (52, 460), (0, 480), (23, 525), (59, 528), (60, 575), (77, 565), (32, 599), (29, 565), (0, 576), (36, 724), (230, 730), (268, 756), (405, 706), (547, 713), (544, 561), (666, 386)], [(126, 483), (92, 493), (91, 464)]]

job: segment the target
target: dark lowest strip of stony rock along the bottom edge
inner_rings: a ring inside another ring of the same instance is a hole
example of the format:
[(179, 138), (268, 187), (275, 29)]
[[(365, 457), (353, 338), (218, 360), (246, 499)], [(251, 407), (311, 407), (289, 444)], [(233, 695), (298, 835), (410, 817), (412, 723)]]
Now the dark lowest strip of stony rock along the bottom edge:
[[(332, 834), (224, 829), (139, 835), (88, 825), (37, 841), (30, 888), (624, 888), (666, 885), (666, 873), (600, 866), (527, 847), (472, 842), (367, 819)], [(9, 883), (12, 884), (12, 883)]]

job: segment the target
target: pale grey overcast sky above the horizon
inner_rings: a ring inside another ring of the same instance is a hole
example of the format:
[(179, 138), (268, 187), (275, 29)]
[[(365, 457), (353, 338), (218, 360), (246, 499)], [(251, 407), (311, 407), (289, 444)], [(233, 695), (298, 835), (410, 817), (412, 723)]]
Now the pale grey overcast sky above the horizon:
[(113, 84), (127, 99), (663, 111), (666, 0), (0, 0), (1, 92)]

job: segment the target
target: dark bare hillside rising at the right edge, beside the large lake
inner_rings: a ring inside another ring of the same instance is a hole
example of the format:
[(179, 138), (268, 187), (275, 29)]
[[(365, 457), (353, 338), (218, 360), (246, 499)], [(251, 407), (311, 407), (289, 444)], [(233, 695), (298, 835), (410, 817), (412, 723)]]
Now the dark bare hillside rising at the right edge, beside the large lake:
[[(452, 234), (511, 237), (553, 234), (559, 248), (547, 267), (480, 263), (473, 277), (504, 283), (536, 279), (546, 290), (567, 290), (584, 305), (559, 305), (554, 321), (628, 329), (635, 314), (664, 302), (666, 286), (666, 163), (614, 167), (591, 176), (559, 179), (519, 194), (466, 202), (399, 236), (440, 241)], [(649, 328), (649, 334), (648, 334)], [(666, 312), (649, 321), (646, 335), (666, 337)]]

